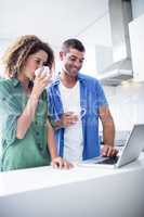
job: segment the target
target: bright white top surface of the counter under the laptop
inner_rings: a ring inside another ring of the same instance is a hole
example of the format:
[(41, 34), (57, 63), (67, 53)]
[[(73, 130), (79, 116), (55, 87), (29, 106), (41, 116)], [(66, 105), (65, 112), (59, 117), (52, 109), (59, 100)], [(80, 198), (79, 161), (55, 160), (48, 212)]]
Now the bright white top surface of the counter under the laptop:
[(144, 169), (144, 153), (138, 161), (118, 169), (75, 165), (69, 170), (53, 169), (51, 166), (45, 166), (0, 173), (0, 196), (113, 176), (135, 169)]

